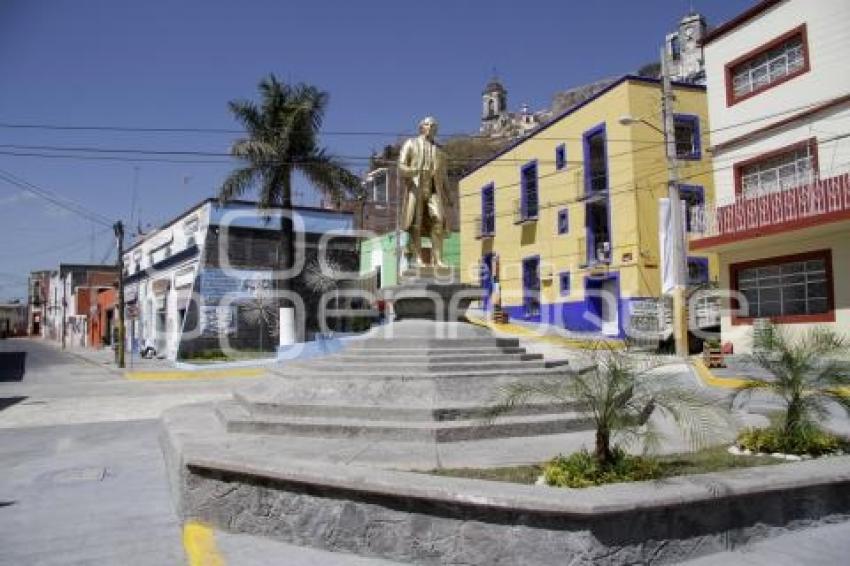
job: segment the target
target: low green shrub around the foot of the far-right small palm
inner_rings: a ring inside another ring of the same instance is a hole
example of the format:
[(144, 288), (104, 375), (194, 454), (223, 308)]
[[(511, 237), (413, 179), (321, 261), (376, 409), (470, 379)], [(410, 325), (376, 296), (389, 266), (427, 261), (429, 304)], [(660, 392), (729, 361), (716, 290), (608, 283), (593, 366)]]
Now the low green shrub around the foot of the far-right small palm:
[(843, 447), (841, 438), (824, 432), (816, 426), (809, 425), (796, 430), (797, 432), (789, 435), (780, 426), (751, 428), (738, 435), (736, 444), (739, 448), (752, 452), (768, 454), (781, 452), (809, 456), (832, 454)]

